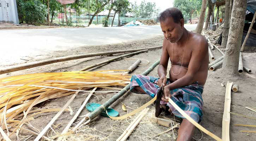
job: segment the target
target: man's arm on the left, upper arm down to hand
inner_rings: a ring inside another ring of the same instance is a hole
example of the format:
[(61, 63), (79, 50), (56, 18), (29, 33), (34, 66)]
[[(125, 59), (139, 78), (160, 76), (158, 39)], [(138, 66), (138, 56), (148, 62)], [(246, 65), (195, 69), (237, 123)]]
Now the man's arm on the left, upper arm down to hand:
[(163, 49), (162, 49), (162, 55), (161, 55), (161, 59), (160, 59), (160, 64), (158, 67), (158, 75), (160, 77), (160, 79), (158, 80), (157, 84), (159, 86), (161, 86), (162, 84), (165, 85), (167, 79), (166, 79), (166, 74), (167, 74), (167, 67), (168, 67), (168, 61), (169, 61), (169, 54), (167, 51), (167, 39), (164, 38), (163, 39)]

